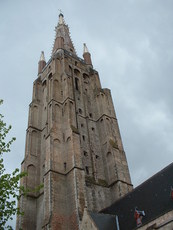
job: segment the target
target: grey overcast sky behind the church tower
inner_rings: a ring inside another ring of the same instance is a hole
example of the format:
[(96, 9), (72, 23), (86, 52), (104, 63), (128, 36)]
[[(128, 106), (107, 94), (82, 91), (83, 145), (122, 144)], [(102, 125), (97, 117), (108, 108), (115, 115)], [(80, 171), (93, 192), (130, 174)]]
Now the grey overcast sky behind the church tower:
[(24, 157), (32, 84), (41, 51), (50, 58), (58, 9), (78, 56), (85, 42), (111, 89), (137, 186), (173, 161), (172, 0), (0, 0), (0, 112), (17, 138), (6, 168)]

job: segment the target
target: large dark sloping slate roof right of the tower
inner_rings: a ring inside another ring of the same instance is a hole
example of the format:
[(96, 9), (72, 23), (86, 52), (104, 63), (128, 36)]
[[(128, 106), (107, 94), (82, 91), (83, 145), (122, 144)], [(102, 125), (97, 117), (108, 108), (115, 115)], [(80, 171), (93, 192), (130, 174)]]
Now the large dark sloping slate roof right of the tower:
[[(145, 211), (146, 216), (143, 217), (143, 224), (173, 210), (173, 200), (170, 196), (171, 186), (173, 187), (173, 163), (102, 210), (101, 213), (118, 215), (120, 230), (136, 229), (135, 207)], [(109, 228), (109, 230), (113, 229), (115, 226)]]

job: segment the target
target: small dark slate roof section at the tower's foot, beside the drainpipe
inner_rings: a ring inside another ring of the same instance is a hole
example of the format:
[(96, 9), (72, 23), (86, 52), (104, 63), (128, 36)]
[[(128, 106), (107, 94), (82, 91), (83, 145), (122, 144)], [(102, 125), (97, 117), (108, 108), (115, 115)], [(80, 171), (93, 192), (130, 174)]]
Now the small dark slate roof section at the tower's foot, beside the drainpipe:
[(89, 212), (89, 214), (99, 230), (109, 230), (109, 229), (117, 230), (115, 216), (110, 214), (94, 213), (94, 212)]

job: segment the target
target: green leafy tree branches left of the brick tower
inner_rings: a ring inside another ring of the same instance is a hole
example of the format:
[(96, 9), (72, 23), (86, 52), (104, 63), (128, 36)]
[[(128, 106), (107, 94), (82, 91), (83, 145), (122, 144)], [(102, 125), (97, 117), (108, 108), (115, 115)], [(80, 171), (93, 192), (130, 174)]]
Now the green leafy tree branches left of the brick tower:
[[(0, 100), (0, 105), (2, 103)], [(7, 226), (7, 222), (13, 219), (13, 215), (22, 215), (16, 203), (20, 199), (21, 191), (24, 191), (19, 185), (20, 178), (26, 175), (24, 172), (20, 173), (19, 169), (15, 169), (11, 174), (5, 172), (3, 156), (10, 152), (10, 146), (15, 141), (14, 137), (7, 141), (10, 129), (11, 125), (7, 126), (3, 115), (0, 114), (0, 230), (12, 229)]]

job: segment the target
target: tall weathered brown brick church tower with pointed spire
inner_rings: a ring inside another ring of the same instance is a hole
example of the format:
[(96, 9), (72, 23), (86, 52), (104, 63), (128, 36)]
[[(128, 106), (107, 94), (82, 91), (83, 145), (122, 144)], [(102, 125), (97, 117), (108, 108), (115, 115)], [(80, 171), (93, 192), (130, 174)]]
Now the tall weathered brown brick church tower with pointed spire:
[(50, 60), (42, 52), (38, 63), (22, 171), (29, 193), (16, 229), (79, 229), (84, 208), (98, 212), (132, 189), (110, 90), (86, 44), (77, 56), (63, 14)]

